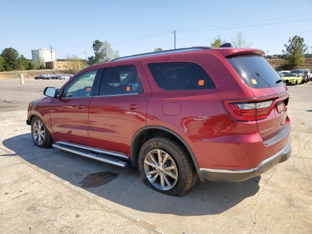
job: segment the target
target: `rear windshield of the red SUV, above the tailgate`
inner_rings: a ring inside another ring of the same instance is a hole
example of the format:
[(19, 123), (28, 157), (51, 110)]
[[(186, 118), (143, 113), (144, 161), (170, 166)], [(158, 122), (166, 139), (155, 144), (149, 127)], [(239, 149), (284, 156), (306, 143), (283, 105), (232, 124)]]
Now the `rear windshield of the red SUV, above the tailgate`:
[(261, 56), (244, 55), (228, 58), (237, 74), (251, 88), (270, 88), (284, 85), (274, 68)]

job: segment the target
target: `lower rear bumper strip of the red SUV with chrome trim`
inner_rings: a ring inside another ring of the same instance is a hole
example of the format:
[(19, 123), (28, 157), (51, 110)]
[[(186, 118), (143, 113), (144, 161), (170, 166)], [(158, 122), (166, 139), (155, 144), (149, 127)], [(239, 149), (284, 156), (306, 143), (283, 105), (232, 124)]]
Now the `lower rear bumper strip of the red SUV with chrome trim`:
[(292, 154), (291, 140), (275, 155), (263, 160), (255, 168), (246, 170), (224, 170), (198, 168), (197, 173), (201, 181), (241, 182), (268, 171), (278, 163), (286, 161)]

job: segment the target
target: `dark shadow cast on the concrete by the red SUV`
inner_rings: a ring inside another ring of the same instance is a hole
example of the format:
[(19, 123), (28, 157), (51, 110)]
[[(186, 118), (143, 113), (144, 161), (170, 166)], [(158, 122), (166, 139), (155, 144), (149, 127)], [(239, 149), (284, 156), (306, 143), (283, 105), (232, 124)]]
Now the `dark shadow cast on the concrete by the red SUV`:
[(8, 138), (3, 145), (15, 154), (0, 156), (20, 156), (90, 193), (143, 212), (188, 216), (220, 214), (255, 195), (261, 178), (240, 183), (197, 181), (190, 193), (174, 197), (145, 186), (132, 167), (123, 169), (57, 149), (41, 149), (34, 145), (30, 133)]

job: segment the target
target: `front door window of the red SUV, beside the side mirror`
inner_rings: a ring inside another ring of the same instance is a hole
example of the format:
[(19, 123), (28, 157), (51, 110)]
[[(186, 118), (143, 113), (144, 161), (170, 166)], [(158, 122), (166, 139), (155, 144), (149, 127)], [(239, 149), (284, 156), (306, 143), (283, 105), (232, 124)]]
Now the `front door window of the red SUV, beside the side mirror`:
[(63, 98), (90, 97), (97, 71), (98, 70), (88, 71), (75, 78), (75, 80), (64, 89)]

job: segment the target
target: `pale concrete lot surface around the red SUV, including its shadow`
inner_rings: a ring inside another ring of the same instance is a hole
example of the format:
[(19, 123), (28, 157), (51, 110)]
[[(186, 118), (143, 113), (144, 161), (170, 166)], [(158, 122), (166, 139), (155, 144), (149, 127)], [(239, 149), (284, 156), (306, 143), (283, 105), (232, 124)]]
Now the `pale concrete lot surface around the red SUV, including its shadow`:
[(291, 158), (240, 183), (183, 197), (138, 171), (35, 147), (27, 105), (66, 80), (0, 80), (0, 233), (312, 233), (312, 85), (289, 86)]

